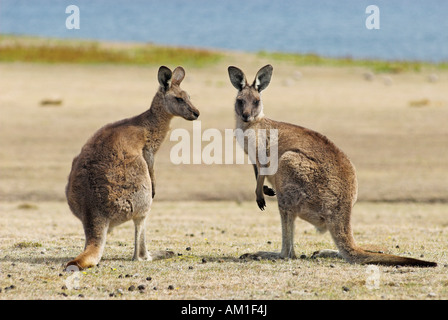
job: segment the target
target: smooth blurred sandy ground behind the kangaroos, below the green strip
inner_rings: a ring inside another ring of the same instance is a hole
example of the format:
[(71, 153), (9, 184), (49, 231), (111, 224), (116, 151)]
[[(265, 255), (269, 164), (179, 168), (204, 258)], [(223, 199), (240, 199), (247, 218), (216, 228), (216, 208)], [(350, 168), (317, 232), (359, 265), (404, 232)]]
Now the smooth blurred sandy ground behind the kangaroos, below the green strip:
[[(250, 57), (186, 70), (183, 88), (201, 111), (203, 131), (234, 128), (236, 90), (226, 68), (238, 65), (252, 79), (268, 61)], [(273, 65), (266, 116), (340, 146), (357, 168), (359, 200), (447, 201), (448, 73), (436, 83), (424, 71), (366, 81), (363, 69)], [(85, 141), (103, 125), (145, 111), (157, 89), (157, 68), (150, 67), (17, 63), (1, 64), (0, 72), (0, 200), (64, 201), (71, 161)], [(53, 97), (62, 105), (40, 106)], [(191, 131), (192, 122), (175, 119), (172, 128), (180, 127)], [(176, 166), (169, 157), (176, 143), (167, 139), (156, 157), (158, 200), (252, 200), (247, 165)]]

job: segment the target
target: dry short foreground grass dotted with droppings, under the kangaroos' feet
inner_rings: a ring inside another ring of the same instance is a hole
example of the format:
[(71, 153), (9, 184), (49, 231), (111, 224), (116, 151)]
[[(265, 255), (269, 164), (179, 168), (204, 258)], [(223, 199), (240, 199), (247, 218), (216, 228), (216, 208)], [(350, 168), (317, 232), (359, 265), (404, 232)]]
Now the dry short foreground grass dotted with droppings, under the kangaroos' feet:
[[(80, 222), (68, 213), (65, 203), (40, 202), (33, 211), (18, 206), (0, 207), (0, 284), (15, 286), (0, 293), (0, 299), (448, 298), (447, 205), (356, 206), (353, 224), (359, 244), (439, 262), (431, 269), (380, 267), (379, 287), (374, 290), (366, 286), (365, 266), (310, 259), (315, 250), (334, 245), (329, 234), (318, 234), (303, 221), (297, 222), (295, 250), (306, 258), (239, 259), (246, 252), (279, 250), (280, 219), (274, 202), (263, 213), (252, 202), (155, 203), (148, 221), (148, 246), (178, 255), (154, 262), (131, 261), (133, 225), (129, 222), (109, 235), (100, 266), (80, 274), (80, 289), (65, 289), (70, 274), (63, 272), (62, 265), (84, 245)], [(143, 292), (128, 290), (142, 284)]]

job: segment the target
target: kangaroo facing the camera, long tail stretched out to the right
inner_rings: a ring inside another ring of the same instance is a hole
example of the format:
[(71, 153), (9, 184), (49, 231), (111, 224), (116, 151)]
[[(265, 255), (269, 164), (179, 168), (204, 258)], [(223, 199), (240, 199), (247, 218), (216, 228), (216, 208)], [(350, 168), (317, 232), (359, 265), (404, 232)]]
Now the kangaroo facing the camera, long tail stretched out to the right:
[[(417, 260), (364, 250), (355, 244), (350, 217), (357, 200), (358, 183), (352, 162), (333, 142), (310, 129), (268, 119), (263, 114), (261, 91), (272, 77), (273, 67), (266, 65), (248, 84), (243, 71), (230, 66), (230, 82), (238, 90), (235, 102), (236, 126), (243, 132), (252, 129), (277, 130), (278, 165), (275, 174), (263, 175), (258, 158), (254, 162), (256, 201), (266, 207), (264, 195), (277, 195), (282, 225), (282, 249), (256, 252), (243, 257), (267, 259), (295, 258), (294, 221), (310, 222), (320, 232), (329, 231), (338, 251), (322, 250), (314, 256), (338, 256), (349, 263), (434, 267), (435, 262)], [(258, 140), (258, 139), (257, 139)], [(252, 143), (257, 140), (252, 140)], [(266, 152), (269, 144), (266, 143)], [(244, 146), (247, 153), (247, 146)], [(264, 186), (265, 178), (274, 190)]]

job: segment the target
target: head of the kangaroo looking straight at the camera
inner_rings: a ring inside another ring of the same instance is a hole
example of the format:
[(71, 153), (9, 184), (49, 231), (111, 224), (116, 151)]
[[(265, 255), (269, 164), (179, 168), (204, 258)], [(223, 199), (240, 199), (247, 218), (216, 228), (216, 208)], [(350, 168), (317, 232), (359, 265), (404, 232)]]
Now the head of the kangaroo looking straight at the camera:
[(244, 72), (237, 67), (229, 67), (230, 82), (238, 89), (235, 102), (235, 113), (244, 122), (251, 122), (263, 117), (261, 91), (271, 82), (272, 66), (261, 68), (252, 85), (248, 85)]

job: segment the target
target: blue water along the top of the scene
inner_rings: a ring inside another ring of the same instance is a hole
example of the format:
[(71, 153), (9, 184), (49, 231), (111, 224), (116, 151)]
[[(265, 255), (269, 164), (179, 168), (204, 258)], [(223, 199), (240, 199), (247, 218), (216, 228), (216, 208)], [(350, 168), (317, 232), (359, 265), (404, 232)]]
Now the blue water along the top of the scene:
[[(80, 29), (68, 30), (68, 5)], [(368, 30), (370, 4), (380, 29)], [(1, 0), (0, 33), (448, 61), (446, 0)]]

